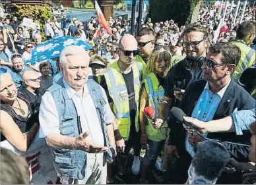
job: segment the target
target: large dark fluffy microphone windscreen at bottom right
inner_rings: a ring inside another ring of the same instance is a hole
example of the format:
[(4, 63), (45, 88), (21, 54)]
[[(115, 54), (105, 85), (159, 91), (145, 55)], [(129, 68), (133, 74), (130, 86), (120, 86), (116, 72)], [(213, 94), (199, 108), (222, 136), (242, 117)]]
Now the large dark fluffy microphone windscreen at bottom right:
[(197, 152), (191, 164), (197, 175), (214, 180), (220, 176), (228, 161), (230, 161), (228, 149), (218, 142), (207, 140), (197, 145)]

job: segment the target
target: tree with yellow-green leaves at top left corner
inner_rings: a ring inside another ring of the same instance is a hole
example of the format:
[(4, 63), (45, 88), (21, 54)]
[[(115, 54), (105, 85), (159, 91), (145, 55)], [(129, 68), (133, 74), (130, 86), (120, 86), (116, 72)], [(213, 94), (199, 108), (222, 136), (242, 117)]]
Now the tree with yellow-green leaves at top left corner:
[[(51, 9), (47, 4), (44, 4), (44, 5), (11, 4), (9, 6), (9, 9), (11, 10), (11, 13), (18, 18), (18, 20), (22, 21), (24, 17), (33, 19), (34, 22), (37, 22), (38, 24), (40, 24), (41, 30), (44, 30), (46, 20), (53, 18)], [(42, 34), (42, 39), (45, 40), (46, 36), (44, 32), (41, 32), (41, 34)]]

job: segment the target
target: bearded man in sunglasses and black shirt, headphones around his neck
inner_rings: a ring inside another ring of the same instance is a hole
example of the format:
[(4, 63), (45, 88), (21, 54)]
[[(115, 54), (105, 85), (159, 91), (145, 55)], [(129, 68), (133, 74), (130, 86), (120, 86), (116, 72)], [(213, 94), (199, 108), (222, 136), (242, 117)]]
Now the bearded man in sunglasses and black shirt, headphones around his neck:
[(187, 57), (172, 66), (166, 76), (164, 101), (160, 105), (160, 115), (154, 123), (155, 128), (162, 126), (172, 107), (179, 106), (189, 84), (202, 78), (201, 57), (206, 56), (209, 45), (207, 29), (200, 24), (191, 24), (183, 30), (181, 38)]

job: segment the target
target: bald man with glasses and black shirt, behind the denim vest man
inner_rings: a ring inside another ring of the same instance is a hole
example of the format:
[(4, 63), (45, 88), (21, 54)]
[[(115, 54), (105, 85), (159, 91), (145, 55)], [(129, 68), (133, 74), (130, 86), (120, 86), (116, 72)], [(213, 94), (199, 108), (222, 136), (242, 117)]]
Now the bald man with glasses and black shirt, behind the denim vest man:
[(18, 90), (30, 102), (33, 110), (39, 110), (42, 92), (40, 90), (40, 76), (39, 72), (34, 70), (26, 70), (22, 74), (22, 86)]

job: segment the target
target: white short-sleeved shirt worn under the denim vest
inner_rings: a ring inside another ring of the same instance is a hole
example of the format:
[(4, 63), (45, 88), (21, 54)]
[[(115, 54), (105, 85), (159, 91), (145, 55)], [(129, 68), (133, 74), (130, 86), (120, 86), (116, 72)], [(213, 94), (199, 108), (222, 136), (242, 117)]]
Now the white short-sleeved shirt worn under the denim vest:
[[(92, 100), (86, 84), (84, 85), (84, 93), (82, 97), (77, 94), (77, 92), (71, 88), (65, 80), (63, 80), (64, 86), (67, 90), (67, 95), (71, 98), (77, 109), (77, 115), (80, 117), (80, 123), (82, 127), (82, 132), (89, 131), (88, 141), (94, 144), (104, 145), (104, 136), (102, 133), (102, 128), (100, 126), (100, 121), (98, 120), (98, 115), (96, 113), (96, 108)], [(101, 88), (101, 87), (100, 87)], [(108, 98), (103, 88), (101, 88), (104, 95), (104, 99), (108, 102)], [(110, 105), (107, 103), (106, 108), (106, 122), (113, 122), (112, 110)], [(51, 93), (46, 92), (42, 96), (42, 103), (40, 105), (39, 113), (40, 121), (40, 131), (39, 137), (45, 138), (49, 134), (60, 134), (59, 130), (59, 116), (57, 113), (57, 108), (55, 101)]]

